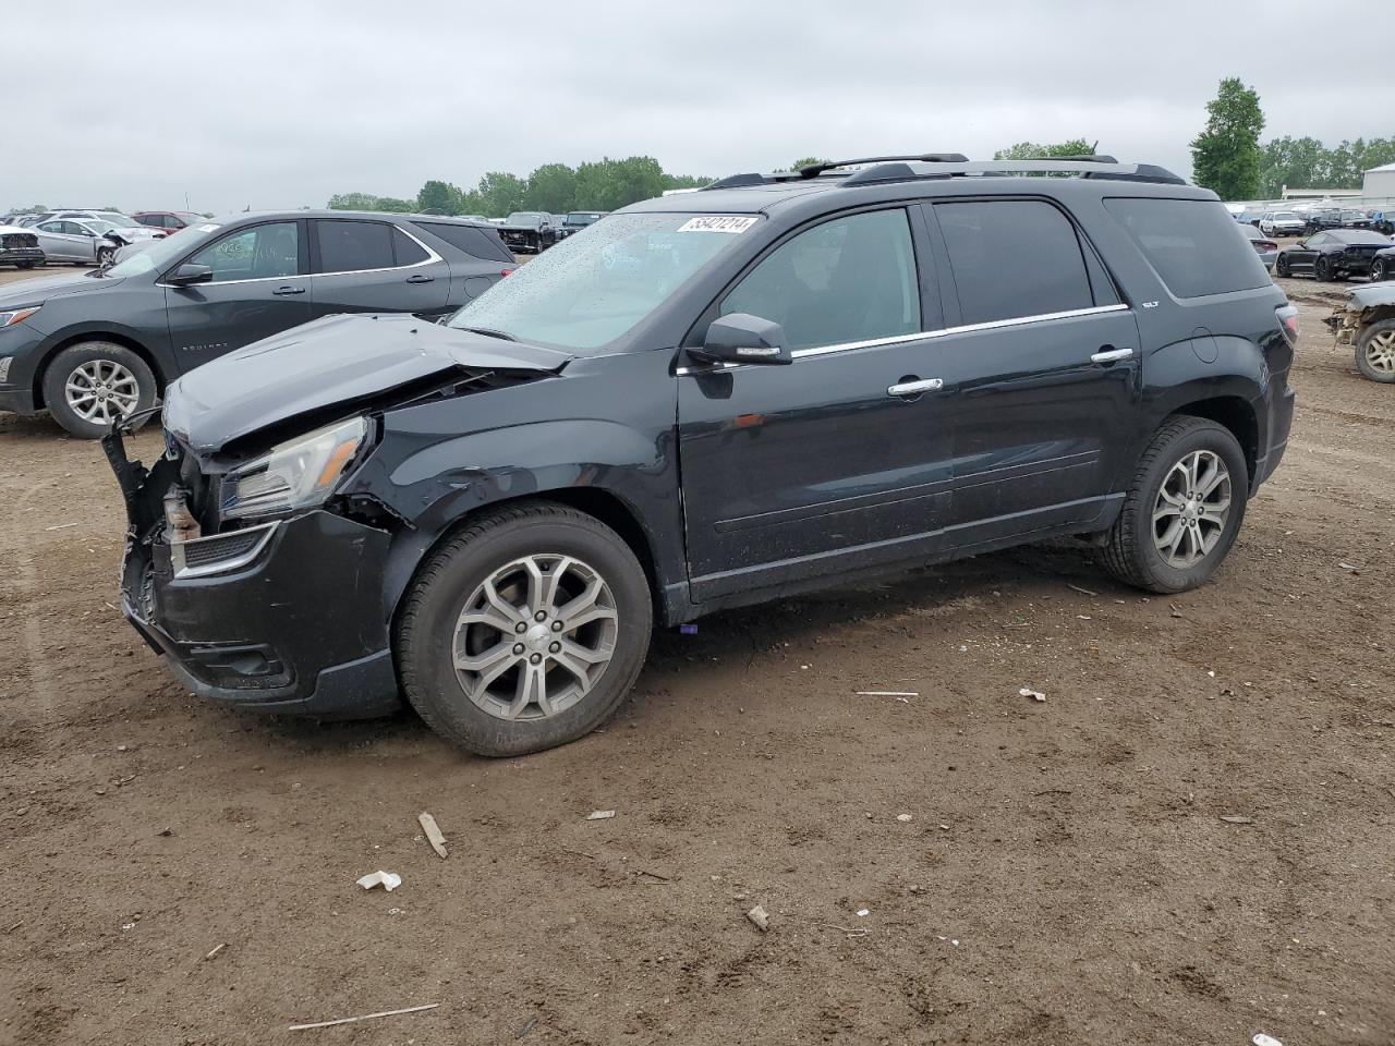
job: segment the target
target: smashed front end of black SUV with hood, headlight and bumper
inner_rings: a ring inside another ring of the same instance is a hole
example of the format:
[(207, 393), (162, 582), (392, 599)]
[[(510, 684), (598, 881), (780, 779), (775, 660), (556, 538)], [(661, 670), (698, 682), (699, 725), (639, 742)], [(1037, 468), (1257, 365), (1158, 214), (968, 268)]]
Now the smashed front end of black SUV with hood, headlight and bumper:
[(102, 441), (130, 520), (123, 612), (201, 696), (321, 718), (395, 708), (385, 577), (412, 524), (346, 488), (372, 471), (384, 413), (568, 358), (413, 317), (331, 317), (195, 368), (166, 391), (152, 466), (127, 456), (130, 424)]

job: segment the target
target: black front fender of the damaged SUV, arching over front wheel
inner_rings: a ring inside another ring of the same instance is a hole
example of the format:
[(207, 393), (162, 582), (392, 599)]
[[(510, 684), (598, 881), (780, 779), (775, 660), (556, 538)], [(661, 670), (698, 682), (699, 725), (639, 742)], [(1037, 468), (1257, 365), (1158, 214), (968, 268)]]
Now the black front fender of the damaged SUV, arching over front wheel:
[(618, 503), (643, 536), (660, 591), (684, 586), (675, 409), (668, 356), (635, 353), (569, 365), (557, 379), (388, 410), (377, 449), (342, 491), (402, 523), (385, 611), (463, 519), (559, 492)]

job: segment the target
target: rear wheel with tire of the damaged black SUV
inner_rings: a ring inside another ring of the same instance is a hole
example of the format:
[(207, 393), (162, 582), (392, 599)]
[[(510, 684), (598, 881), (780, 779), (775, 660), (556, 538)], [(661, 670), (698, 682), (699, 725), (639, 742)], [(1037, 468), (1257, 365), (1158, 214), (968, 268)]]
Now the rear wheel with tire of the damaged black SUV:
[(1155, 593), (1204, 584), (1235, 544), (1249, 487), (1229, 430), (1198, 417), (1168, 420), (1138, 459), (1105, 543), (1105, 569)]

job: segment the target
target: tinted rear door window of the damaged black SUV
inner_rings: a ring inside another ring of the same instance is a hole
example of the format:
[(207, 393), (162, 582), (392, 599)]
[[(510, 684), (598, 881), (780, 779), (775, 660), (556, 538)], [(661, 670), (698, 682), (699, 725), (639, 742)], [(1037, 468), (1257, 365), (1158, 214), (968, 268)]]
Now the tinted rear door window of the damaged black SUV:
[(1095, 304), (1076, 227), (1036, 199), (936, 204), (960, 322), (1070, 312)]

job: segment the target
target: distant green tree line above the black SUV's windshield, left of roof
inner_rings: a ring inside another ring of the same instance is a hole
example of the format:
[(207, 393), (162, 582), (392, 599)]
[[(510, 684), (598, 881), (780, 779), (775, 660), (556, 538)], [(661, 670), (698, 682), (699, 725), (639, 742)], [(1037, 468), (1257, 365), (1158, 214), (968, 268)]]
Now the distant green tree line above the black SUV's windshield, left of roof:
[(699, 188), (711, 179), (668, 174), (653, 156), (604, 158), (569, 167), (544, 163), (527, 177), (491, 170), (474, 188), (460, 188), (431, 179), (414, 199), (378, 197), (371, 192), (339, 192), (329, 198), (333, 211), (430, 211), (442, 215), (484, 215), (505, 218), (515, 211), (615, 211), (650, 199), (671, 188)]

